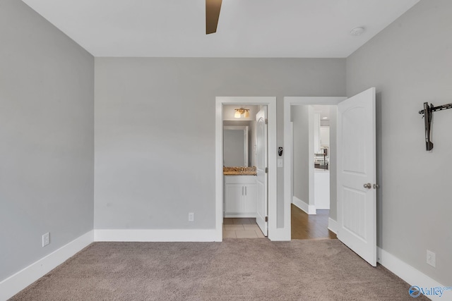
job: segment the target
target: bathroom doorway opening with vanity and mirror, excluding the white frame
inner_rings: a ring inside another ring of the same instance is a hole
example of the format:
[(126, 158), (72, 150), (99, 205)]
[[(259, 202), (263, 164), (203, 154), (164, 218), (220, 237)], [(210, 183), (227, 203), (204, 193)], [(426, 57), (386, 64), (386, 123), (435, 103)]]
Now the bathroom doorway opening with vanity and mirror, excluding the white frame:
[(223, 238), (268, 235), (266, 105), (223, 105)]

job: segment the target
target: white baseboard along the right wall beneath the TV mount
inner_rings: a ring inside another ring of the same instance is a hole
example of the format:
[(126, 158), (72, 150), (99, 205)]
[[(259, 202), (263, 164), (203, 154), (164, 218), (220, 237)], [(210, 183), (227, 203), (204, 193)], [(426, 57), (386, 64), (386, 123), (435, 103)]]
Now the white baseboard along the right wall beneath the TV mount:
[[(380, 247), (376, 247), (376, 257), (377, 262), (410, 285), (416, 285), (419, 288), (436, 288), (445, 286)], [(409, 296), (408, 290), (407, 295)], [(447, 297), (444, 297), (444, 295)], [(445, 290), (442, 297), (439, 297), (439, 295), (426, 295), (426, 297), (429, 297), (431, 300), (451, 300), (452, 290)]]

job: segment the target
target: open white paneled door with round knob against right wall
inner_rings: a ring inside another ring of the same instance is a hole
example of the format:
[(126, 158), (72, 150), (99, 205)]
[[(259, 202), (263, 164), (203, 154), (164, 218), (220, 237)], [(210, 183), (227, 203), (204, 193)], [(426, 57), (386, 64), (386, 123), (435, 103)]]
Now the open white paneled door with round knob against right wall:
[(338, 239), (376, 266), (375, 88), (338, 104)]

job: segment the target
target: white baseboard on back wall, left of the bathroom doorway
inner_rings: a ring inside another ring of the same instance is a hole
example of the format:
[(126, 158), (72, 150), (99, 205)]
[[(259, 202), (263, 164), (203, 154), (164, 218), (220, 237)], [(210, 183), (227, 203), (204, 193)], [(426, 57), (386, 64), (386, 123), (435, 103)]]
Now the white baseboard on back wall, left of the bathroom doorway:
[(95, 229), (94, 241), (211, 242), (219, 241), (215, 229)]

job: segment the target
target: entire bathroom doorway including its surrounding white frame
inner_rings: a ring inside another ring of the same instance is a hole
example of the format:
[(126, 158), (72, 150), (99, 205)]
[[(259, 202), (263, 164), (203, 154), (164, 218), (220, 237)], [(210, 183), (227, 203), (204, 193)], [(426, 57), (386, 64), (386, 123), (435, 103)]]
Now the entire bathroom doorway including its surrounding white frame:
[[(271, 239), (276, 225), (276, 156), (269, 156), (268, 149), (276, 149), (276, 99), (217, 97), (216, 106), (217, 234)], [(230, 133), (231, 127), (237, 132)], [(234, 136), (236, 142), (231, 142)]]

